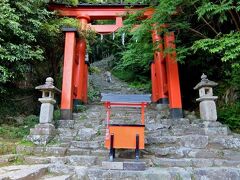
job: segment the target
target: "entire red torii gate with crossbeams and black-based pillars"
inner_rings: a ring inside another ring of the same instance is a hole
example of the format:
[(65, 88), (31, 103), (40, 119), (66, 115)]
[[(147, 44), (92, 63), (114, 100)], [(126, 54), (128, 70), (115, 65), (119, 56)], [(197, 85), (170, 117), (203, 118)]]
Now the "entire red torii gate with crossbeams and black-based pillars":
[[(126, 8), (126, 7), (131, 8)], [(77, 18), (82, 30), (90, 27), (100, 34), (115, 32), (123, 26), (126, 13), (142, 10), (141, 4), (79, 4), (76, 7), (65, 4), (51, 3), (50, 10), (56, 10), (60, 16)], [(150, 18), (154, 9), (147, 8), (144, 18)], [(114, 25), (92, 25), (93, 20), (115, 20)], [(63, 83), (61, 98), (61, 118), (72, 119), (73, 104), (87, 102), (88, 64), (85, 62), (86, 41), (77, 36), (76, 28), (63, 28), (65, 32), (65, 52), (63, 65)], [(182, 117), (182, 102), (176, 61), (175, 36), (167, 32), (161, 37), (157, 30), (152, 31), (154, 43), (159, 50), (154, 53), (151, 63), (152, 101), (162, 104), (169, 103), (171, 116)], [(171, 48), (164, 57), (163, 50)]]

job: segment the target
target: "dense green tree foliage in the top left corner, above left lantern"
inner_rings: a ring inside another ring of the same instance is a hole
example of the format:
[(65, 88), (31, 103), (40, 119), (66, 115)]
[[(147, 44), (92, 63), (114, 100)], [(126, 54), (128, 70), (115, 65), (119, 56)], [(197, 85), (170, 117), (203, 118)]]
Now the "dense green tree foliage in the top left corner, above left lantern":
[[(44, 59), (38, 35), (51, 12), (44, 0), (0, 1), (0, 89)], [(14, 65), (13, 65), (14, 64)]]

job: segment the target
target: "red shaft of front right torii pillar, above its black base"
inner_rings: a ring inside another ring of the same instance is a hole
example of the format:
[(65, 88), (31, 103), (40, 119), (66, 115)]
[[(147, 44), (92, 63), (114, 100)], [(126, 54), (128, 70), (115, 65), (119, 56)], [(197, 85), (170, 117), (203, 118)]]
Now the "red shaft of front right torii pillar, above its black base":
[(169, 106), (170, 108), (182, 108), (178, 64), (176, 61), (176, 45), (173, 32), (165, 33), (164, 45), (165, 49), (169, 48), (170, 50), (166, 55)]

